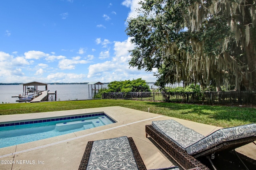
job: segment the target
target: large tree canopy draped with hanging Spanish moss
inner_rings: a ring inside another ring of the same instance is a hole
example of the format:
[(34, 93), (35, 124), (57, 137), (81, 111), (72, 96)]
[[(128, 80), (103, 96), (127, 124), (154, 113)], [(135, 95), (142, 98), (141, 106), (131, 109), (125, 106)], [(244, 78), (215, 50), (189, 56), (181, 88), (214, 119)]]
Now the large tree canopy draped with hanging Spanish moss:
[(130, 66), (155, 74), (159, 86), (183, 81), (202, 87), (256, 90), (255, 0), (144, 0), (128, 20), (136, 47)]

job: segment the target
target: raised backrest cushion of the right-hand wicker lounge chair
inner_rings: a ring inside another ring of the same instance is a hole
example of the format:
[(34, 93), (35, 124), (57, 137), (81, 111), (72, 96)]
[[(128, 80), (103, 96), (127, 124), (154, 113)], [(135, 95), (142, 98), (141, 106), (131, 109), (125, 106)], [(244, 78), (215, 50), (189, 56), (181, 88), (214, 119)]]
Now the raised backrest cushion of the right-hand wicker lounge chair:
[(223, 142), (242, 139), (245, 137), (252, 137), (254, 135), (256, 135), (255, 123), (219, 129), (218, 131), (215, 131), (214, 133), (194, 143), (190, 147), (187, 147), (186, 151), (191, 155), (198, 154)]

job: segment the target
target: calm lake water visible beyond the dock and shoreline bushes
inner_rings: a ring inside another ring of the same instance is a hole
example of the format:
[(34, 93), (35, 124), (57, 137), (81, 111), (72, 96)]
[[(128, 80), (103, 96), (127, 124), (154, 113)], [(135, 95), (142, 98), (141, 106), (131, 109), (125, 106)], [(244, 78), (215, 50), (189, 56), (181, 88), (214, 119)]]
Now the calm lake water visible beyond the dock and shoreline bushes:
[[(148, 84), (149, 87), (153, 84)], [(102, 88), (107, 88), (108, 84), (103, 84)], [(57, 101), (64, 100), (86, 100), (92, 98), (92, 90), (90, 85), (90, 92), (88, 85), (86, 84), (48, 84), (47, 89), (49, 92), (57, 91)], [(93, 86), (94, 88), (94, 86)], [(99, 85), (101, 88), (101, 85)], [(157, 88), (153, 86), (153, 88)], [(98, 89), (98, 85), (96, 85)], [(38, 90), (45, 90), (45, 86), (38, 86)], [(0, 104), (4, 103), (18, 103), (16, 100), (18, 98), (12, 98), (12, 96), (17, 96), (23, 93), (22, 85), (0, 85)], [(32, 93), (30, 93), (32, 94)]]

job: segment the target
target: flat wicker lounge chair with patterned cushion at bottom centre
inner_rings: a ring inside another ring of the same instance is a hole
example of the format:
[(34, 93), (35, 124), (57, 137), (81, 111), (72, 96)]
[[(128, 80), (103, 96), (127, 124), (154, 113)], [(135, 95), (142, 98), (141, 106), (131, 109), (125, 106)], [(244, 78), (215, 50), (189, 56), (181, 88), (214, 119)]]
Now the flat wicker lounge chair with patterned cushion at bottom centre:
[[(89, 141), (79, 170), (146, 170), (131, 137)], [(157, 170), (179, 170), (177, 166)]]

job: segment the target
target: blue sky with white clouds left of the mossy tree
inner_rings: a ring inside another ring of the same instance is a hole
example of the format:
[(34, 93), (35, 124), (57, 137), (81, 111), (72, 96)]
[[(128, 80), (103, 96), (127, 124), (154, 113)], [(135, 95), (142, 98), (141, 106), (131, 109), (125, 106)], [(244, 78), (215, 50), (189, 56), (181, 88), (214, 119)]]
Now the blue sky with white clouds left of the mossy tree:
[(0, 82), (154, 82), (128, 64), (125, 20), (138, 1), (1, 1)]

